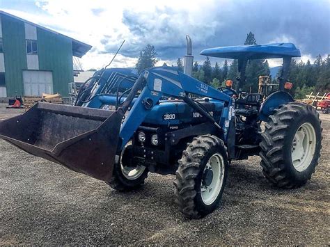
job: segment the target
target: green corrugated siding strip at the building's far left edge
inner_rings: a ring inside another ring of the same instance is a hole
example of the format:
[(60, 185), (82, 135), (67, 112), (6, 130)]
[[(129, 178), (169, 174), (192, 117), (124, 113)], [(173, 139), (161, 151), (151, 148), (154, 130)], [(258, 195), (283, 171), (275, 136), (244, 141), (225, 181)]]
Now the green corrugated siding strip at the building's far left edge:
[(24, 22), (1, 15), (3, 54), (7, 95), (24, 95), (23, 74), (26, 70)]

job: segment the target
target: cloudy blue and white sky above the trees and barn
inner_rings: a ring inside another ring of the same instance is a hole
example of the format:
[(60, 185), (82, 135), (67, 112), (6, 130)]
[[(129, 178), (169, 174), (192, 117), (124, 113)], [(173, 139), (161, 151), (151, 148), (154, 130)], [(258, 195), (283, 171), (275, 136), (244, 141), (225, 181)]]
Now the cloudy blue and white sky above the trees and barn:
[(0, 9), (92, 45), (84, 69), (106, 65), (123, 40), (113, 67), (134, 66), (147, 44), (159, 65), (171, 65), (185, 54), (186, 34), (197, 61), (202, 49), (242, 45), (249, 31), (259, 44), (294, 42), (304, 61), (330, 53), (329, 0), (0, 0)]

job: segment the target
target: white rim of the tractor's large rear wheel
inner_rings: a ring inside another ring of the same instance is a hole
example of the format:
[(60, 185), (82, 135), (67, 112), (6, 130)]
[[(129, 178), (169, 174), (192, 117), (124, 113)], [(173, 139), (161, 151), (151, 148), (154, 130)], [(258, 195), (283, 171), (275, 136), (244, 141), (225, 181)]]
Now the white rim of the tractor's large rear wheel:
[(302, 172), (313, 160), (316, 147), (316, 134), (313, 125), (305, 122), (298, 129), (292, 141), (291, 159), (294, 169)]

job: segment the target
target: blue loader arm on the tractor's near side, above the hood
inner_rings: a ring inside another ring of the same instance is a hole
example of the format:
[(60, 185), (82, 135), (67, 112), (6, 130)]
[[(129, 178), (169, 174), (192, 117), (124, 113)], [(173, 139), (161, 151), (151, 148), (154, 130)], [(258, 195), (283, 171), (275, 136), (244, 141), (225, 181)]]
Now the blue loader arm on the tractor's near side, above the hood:
[(122, 143), (121, 145), (118, 145), (118, 150), (122, 150), (129, 139), (132, 138), (132, 135), (146, 118), (146, 115), (148, 115), (152, 107), (157, 104), (163, 95), (184, 100), (191, 107), (196, 107), (196, 111), (205, 115), (205, 117), (211, 122), (214, 122), (212, 117), (208, 113), (205, 114), (203, 109), (198, 109), (198, 106), (194, 106), (194, 102), (192, 102), (187, 95), (191, 93), (219, 99), (225, 102), (226, 104), (223, 107), (221, 122), (214, 122), (214, 124), (219, 128), (221, 128), (220, 126), (225, 126), (222, 130), (226, 139), (230, 122), (226, 122), (226, 125), (224, 123), (225, 121), (232, 120), (235, 105), (235, 102), (233, 102), (233, 99), (230, 96), (221, 93), (219, 90), (212, 88), (212, 86), (208, 86), (193, 77), (189, 77), (187, 74), (178, 71), (176, 68), (153, 67), (141, 72), (139, 79), (134, 84), (135, 89), (132, 89), (131, 93), (129, 93), (129, 96), (125, 100), (125, 106), (123, 106), (124, 111), (126, 110), (126, 107), (131, 104), (132, 95), (135, 95), (137, 92), (136, 89), (141, 87), (143, 83), (144, 87), (141, 94), (134, 102), (132, 109), (129, 111), (127, 118), (120, 128), (119, 136)]

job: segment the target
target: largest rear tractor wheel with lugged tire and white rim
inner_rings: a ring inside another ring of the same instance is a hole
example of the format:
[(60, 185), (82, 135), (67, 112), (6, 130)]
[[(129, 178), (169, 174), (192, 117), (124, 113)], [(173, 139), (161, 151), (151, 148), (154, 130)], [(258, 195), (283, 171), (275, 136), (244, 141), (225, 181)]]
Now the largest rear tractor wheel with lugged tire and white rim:
[(280, 106), (262, 133), (262, 172), (281, 188), (306, 184), (320, 159), (321, 141), (321, 121), (313, 106), (298, 102)]

